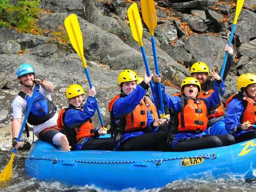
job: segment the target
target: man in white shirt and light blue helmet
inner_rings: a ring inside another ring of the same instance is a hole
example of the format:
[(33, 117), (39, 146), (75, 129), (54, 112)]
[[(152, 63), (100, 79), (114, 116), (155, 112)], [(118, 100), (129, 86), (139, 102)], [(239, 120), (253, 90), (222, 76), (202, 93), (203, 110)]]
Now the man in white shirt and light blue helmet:
[(30, 64), (22, 64), (20, 66), (17, 70), (17, 79), (20, 81), (22, 91), (12, 102), (13, 147), (18, 148), (20, 146), (20, 142), (17, 142), (17, 137), (20, 132), (21, 116), (26, 113), (27, 102), (29, 102), (32, 96), (35, 82), (35, 84), (38, 84), (38, 91), (35, 98), (38, 99), (35, 99), (37, 101), (34, 100), (32, 104), (28, 122), (33, 125), (34, 133), (38, 138), (60, 146), (63, 151), (70, 151), (67, 137), (57, 127), (58, 113), (56, 113), (56, 108), (51, 98), (53, 91), (52, 83), (42, 79), (40, 76), (35, 76), (34, 68)]

